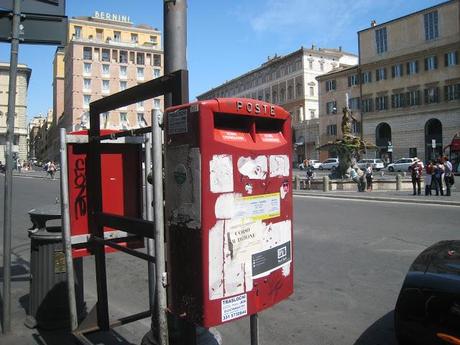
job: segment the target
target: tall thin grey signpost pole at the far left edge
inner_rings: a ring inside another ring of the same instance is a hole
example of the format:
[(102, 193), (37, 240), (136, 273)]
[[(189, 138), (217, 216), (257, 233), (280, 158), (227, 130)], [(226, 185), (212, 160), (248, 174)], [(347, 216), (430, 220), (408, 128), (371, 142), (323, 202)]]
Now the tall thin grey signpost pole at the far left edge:
[(11, 35), (10, 80), (8, 87), (8, 119), (5, 147), (5, 195), (3, 219), (3, 334), (11, 332), (11, 218), (13, 205), (13, 144), (16, 112), (16, 78), (18, 72), (19, 24), (21, 0), (14, 0)]

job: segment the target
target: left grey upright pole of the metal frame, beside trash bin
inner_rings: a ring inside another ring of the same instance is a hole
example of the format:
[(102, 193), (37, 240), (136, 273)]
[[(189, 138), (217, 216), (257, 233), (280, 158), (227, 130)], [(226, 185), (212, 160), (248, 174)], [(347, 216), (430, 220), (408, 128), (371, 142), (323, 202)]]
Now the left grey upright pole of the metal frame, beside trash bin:
[(69, 174), (67, 166), (67, 141), (65, 128), (60, 128), (60, 155), (61, 155), (61, 217), (62, 240), (64, 245), (65, 264), (67, 272), (67, 292), (69, 298), (70, 330), (78, 327), (77, 302), (75, 299), (75, 281), (72, 258), (72, 237), (70, 234), (69, 213)]

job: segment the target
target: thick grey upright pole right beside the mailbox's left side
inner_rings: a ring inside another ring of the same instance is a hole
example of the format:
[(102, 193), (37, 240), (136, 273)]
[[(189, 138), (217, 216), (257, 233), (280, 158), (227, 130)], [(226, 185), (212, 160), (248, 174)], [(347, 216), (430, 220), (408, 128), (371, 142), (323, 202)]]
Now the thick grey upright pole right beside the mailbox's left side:
[(155, 256), (156, 256), (156, 287), (158, 307), (158, 341), (160, 345), (168, 345), (168, 321), (166, 314), (166, 260), (165, 260), (165, 238), (164, 238), (164, 214), (163, 214), (163, 149), (162, 132), (160, 128), (159, 109), (153, 110), (152, 116), (152, 158), (155, 162), (153, 169), (154, 185), (154, 219), (155, 219)]

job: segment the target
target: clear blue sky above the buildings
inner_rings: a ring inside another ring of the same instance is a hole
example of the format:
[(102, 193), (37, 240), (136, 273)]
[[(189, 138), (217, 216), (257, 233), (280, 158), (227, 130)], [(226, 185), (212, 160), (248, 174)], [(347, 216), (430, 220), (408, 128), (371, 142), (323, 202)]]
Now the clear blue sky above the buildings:
[[(188, 0), (187, 63), (190, 100), (250, 70), (268, 57), (313, 44), (357, 54), (357, 32), (442, 3), (441, 0)], [(161, 0), (67, 0), (66, 15), (95, 11), (127, 15), (134, 24), (163, 31)], [(53, 106), (55, 46), (22, 44), (19, 63), (32, 69), (29, 119)], [(10, 44), (0, 43), (0, 61), (9, 62)]]

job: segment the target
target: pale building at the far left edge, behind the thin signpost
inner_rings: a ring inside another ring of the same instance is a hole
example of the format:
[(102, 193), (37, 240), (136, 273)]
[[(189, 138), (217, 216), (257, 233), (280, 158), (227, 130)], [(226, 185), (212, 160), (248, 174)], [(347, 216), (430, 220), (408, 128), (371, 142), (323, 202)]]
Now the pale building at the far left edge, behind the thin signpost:
[[(0, 63), (0, 161), (5, 162), (10, 65)], [(32, 70), (19, 64), (16, 82), (16, 112), (14, 120), (13, 156), (27, 160), (27, 90)]]

